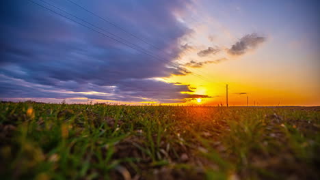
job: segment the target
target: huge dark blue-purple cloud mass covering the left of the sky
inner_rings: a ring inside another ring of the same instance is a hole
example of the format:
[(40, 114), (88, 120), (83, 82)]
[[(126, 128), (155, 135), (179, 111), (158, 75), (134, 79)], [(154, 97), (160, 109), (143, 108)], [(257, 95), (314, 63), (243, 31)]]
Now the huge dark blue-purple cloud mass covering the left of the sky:
[[(191, 1), (82, 1), (83, 7), (157, 48), (66, 1), (50, 3), (126, 39), (141, 51), (148, 50), (155, 56), (163, 52), (168, 55), (155, 59), (29, 1), (1, 1), (1, 97), (152, 99), (159, 102), (190, 98), (180, 93), (191, 91), (187, 85), (152, 78), (191, 73), (184, 67), (172, 65), (174, 57), (183, 50), (179, 39), (191, 32), (176, 20), (174, 13), (184, 12)], [(83, 93), (90, 91), (99, 93)]]

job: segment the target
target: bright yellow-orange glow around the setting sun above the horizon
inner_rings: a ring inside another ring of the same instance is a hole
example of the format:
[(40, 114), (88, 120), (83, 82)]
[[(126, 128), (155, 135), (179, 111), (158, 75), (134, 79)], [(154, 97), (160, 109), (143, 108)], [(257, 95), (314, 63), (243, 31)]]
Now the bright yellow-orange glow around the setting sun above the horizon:
[[(226, 84), (229, 85), (228, 104), (230, 106), (246, 106), (247, 96), (249, 106), (319, 106), (320, 93), (319, 83), (315, 76), (308, 77), (302, 72), (284, 72), (272, 68), (263, 68), (256, 63), (257, 67), (250, 65), (258, 58), (248, 55), (248, 58), (239, 57), (230, 59), (219, 64), (204, 65), (201, 68), (191, 68), (191, 72), (202, 74), (206, 79), (197, 76), (171, 76), (168, 82), (181, 82), (190, 87), (194, 92), (190, 94), (209, 95), (184, 104), (200, 104), (203, 106), (226, 105)], [(265, 59), (265, 57), (261, 57)], [(200, 59), (198, 61), (201, 61)], [(202, 60), (204, 61), (204, 60)], [(293, 71), (293, 70), (292, 70)], [(311, 74), (312, 75), (312, 74)], [(189, 93), (189, 92), (188, 92)], [(240, 94), (243, 93), (243, 94)]]

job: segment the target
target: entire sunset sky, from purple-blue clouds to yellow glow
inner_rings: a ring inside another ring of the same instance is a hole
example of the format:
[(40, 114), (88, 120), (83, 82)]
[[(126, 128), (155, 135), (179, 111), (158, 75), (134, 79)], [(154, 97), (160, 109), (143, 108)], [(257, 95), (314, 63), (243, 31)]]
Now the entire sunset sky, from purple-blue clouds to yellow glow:
[(319, 106), (319, 1), (0, 2), (0, 99)]

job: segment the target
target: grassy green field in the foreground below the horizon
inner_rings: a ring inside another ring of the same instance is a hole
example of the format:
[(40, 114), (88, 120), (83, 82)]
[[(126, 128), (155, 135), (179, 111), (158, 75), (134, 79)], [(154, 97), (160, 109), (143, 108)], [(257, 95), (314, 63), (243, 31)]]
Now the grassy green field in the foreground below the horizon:
[(0, 103), (1, 179), (319, 179), (319, 107)]

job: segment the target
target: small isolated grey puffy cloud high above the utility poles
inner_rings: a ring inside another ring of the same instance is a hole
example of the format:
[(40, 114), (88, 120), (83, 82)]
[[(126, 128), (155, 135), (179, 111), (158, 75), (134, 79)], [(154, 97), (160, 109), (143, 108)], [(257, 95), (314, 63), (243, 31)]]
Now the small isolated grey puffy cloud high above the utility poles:
[(230, 55), (243, 55), (248, 50), (253, 50), (258, 47), (259, 44), (265, 42), (266, 37), (257, 35), (256, 33), (248, 34), (233, 44), (230, 49), (227, 50)]

